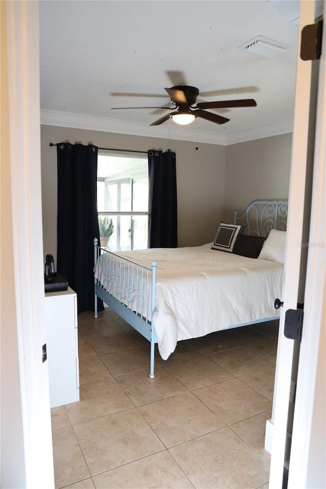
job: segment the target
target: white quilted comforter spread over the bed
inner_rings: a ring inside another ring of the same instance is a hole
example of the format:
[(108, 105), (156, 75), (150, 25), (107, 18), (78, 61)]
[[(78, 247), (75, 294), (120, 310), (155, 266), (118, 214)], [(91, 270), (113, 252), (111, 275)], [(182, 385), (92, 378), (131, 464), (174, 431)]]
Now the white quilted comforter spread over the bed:
[[(283, 264), (210, 246), (121, 254), (148, 267), (157, 260), (153, 324), (164, 360), (179, 340), (278, 316), (274, 300), (282, 295)], [(100, 275), (95, 268), (95, 277), (103, 283)]]

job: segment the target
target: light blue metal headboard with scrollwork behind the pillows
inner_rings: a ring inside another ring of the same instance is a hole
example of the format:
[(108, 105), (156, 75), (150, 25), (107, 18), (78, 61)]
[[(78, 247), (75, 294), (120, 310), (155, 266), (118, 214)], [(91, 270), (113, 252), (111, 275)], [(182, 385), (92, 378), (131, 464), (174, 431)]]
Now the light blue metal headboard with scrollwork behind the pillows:
[(234, 224), (244, 224), (243, 234), (267, 237), (271, 229), (286, 231), (287, 200), (254, 200), (243, 215), (234, 211)]

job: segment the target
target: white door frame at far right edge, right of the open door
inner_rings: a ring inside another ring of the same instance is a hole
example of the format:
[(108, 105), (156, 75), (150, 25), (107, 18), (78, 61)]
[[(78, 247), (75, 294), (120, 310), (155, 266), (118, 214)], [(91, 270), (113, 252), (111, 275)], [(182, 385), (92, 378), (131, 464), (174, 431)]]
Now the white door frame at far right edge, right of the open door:
[[(324, 3), (323, 18), (326, 18)], [(326, 30), (319, 65), (311, 224), (303, 336), (297, 373), (288, 489), (326, 487)], [(319, 355), (318, 355), (319, 353)], [(317, 380), (317, 384), (316, 384)]]

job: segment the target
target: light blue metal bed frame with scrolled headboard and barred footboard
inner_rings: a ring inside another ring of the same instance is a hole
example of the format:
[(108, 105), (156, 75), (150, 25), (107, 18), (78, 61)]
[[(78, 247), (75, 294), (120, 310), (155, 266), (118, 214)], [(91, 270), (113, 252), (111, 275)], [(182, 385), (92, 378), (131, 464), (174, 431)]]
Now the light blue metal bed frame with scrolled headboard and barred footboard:
[[(281, 231), (286, 230), (286, 221), (287, 221), (287, 211), (288, 211), (288, 202), (286, 200), (255, 200), (253, 201), (246, 209), (246, 211), (238, 217), (237, 212), (234, 212), (234, 224), (245, 224), (246, 229), (244, 230), (244, 234), (252, 234), (256, 236), (268, 236), (269, 231), (271, 229), (279, 229)], [(143, 295), (144, 287), (148, 288), (148, 284), (151, 287), (151, 294), (149, 294), (149, 290), (145, 291), (145, 301), (150, 301), (150, 310), (151, 317), (153, 317), (153, 312), (155, 309), (155, 290), (156, 290), (156, 268), (157, 262), (153, 260), (151, 263), (151, 268), (148, 268), (139, 263), (132, 262), (117, 253), (113, 253), (110, 250), (102, 248), (98, 246), (97, 238), (94, 239), (94, 266), (101, 254), (108, 253), (110, 254), (110, 260), (112, 258), (115, 263), (114, 266), (118, 267), (130, 267), (132, 270), (132, 279), (134, 277), (145, 277), (146, 286), (140, 282), (139, 286), (142, 288)], [(110, 275), (110, 274), (109, 274)], [(129, 285), (129, 278), (127, 279), (128, 283), (120, 283), (121, 287), (127, 287)], [(145, 281), (144, 281), (145, 283)], [(119, 297), (119, 294), (114, 296), (110, 292), (108, 292), (103, 284), (96, 278), (94, 279), (95, 284), (95, 311), (94, 317), (97, 318), (97, 297), (99, 297), (107, 306), (111, 307), (120, 317), (122, 317), (125, 321), (127, 321), (135, 330), (137, 330), (142, 336), (144, 336), (150, 342), (150, 378), (154, 378), (154, 349), (155, 343), (157, 343), (157, 338), (155, 334), (155, 328), (153, 324), (153, 320), (149, 321), (147, 317), (142, 313), (142, 307), (139, 311), (134, 311), (130, 307), (128, 307), (128, 302), (122, 300)], [(124, 294), (123, 294), (124, 295)], [(149, 298), (151, 295), (151, 298)], [(137, 301), (136, 301), (137, 302)], [(146, 308), (147, 309), (147, 308)], [(239, 328), (240, 326), (249, 326), (250, 324), (256, 324), (265, 321), (271, 321), (277, 319), (277, 317), (267, 317), (261, 318), (254, 322), (234, 324), (229, 329)]]

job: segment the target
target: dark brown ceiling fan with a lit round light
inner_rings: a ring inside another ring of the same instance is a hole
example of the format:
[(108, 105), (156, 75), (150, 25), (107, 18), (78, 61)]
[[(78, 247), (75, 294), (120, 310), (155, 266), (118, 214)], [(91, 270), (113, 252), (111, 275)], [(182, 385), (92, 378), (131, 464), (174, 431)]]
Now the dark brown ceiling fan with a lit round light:
[(173, 107), (112, 107), (114, 110), (121, 110), (124, 108), (161, 108), (162, 110), (174, 111), (172, 114), (166, 114), (165, 116), (152, 122), (151, 126), (157, 126), (164, 123), (170, 117), (178, 124), (189, 124), (196, 117), (201, 117), (207, 121), (214, 122), (215, 124), (225, 124), (230, 119), (206, 112), (206, 108), (233, 108), (233, 107), (256, 107), (256, 100), (249, 98), (244, 100), (222, 100), (216, 102), (200, 102), (197, 103), (197, 97), (199, 90), (196, 87), (190, 87), (188, 85), (177, 85), (172, 88), (165, 88), (171, 98)]

